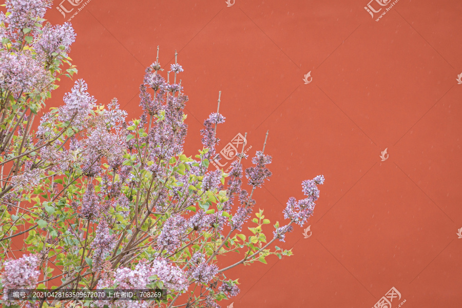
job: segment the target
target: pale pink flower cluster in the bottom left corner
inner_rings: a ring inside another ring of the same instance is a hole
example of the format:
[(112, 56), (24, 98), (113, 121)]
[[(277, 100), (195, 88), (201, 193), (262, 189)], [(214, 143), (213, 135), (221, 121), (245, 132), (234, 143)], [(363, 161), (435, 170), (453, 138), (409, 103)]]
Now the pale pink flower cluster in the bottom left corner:
[(34, 288), (40, 271), (37, 270), (38, 259), (34, 255), (24, 255), (19, 259), (7, 261), (0, 281), (4, 287), (3, 299), (8, 300), (8, 290), (15, 288)]

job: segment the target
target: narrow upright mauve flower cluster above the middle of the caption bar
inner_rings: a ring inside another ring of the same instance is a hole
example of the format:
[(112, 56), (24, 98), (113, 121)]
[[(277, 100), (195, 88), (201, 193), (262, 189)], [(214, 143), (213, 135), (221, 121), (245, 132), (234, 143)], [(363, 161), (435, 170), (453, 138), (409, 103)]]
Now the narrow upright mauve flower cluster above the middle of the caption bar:
[(96, 236), (90, 247), (93, 248), (93, 268), (99, 269), (108, 256), (111, 249), (114, 247), (113, 242), (115, 235), (110, 235), (110, 229), (107, 222), (102, 219), (98, 224)]

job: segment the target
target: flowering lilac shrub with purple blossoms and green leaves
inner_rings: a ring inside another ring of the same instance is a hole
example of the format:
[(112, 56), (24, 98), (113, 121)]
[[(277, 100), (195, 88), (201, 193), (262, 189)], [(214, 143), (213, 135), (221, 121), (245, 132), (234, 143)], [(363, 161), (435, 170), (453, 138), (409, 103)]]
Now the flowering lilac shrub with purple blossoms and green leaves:
[[(256, 211), (250, 236), (244, 235), (254, 191), (271, 177), (266, 139), (252, 167), (243, 170), (247, 157), (240, 153), (229, 174), (208, 170), (210, 160), (220, 159), (216, 130), (225, 118), (217, 111), (204, 121), (203, 149), (195, 158), (184, 155), (188, 97), (176, 82), (183, 71), (177, 59), (167, 80), (158, 59), (146, 69), (140, 119), (127, 122), (116, 99), (97, 105), (78, 80), (64, 104), (32, 129), (56, 82), (76, 72), (67, 55), (72, 27), (44, 25), (50, 4), (8, 0), (7, 13), (0, 14), (2, 303), (18, 303), (7, 296), (15, 288), (160, 288), (161, 302), (85, 304), (219, 307), (217, 301), (239, 293), (238, 281), (224, 276), (227, 269), (291, 255), (273, 243), (313, 214), (324, 178), (302, 183), (306, 198), (288, 200), (283, 212), (289, 221), (274, 224), (273, 238), (263, 233), (270, 224), (263, 210)], [(24, 255), (14, 259), (11, 244), (18, 236)], [(241, 259), (220, 268), (217, 259), (231, 252)], [(27, 304), (60, 306), (53, 300)]]

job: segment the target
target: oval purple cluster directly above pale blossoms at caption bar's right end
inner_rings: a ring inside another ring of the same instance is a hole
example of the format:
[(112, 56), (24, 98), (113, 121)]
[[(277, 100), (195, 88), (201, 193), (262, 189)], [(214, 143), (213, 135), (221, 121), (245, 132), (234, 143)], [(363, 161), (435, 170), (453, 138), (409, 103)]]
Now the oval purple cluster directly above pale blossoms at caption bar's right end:
[(181, 246), (188, 228), (187, 221), (180, 215), (170, 216), (162, 227), (162, 232), (157, 239), (157, 245), (167, 249), (167, 252), (175, 252)]

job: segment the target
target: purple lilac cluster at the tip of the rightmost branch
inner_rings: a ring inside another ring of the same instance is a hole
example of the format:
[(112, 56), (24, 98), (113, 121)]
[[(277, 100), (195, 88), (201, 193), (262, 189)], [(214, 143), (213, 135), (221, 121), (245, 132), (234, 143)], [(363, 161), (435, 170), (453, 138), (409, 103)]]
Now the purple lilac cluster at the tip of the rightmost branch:
[(297, 201), (291, 197), (287, 201), (287, 206), (283, 210), (284, 218), (294, 220), (295, 223), (303, 226), (305, 222), (313, 214), (315, 208), (315, 201), (319, 198), (319, 189), (317, 184), (323, 184), (324, 177), (317, 176), (313, 180), (305, 180), (302, 182), (302, 191), (305, 199)]

